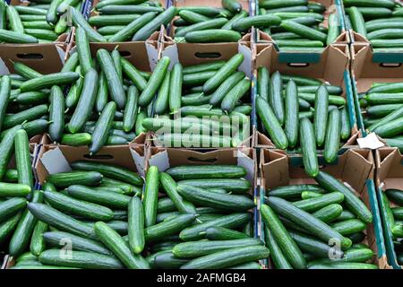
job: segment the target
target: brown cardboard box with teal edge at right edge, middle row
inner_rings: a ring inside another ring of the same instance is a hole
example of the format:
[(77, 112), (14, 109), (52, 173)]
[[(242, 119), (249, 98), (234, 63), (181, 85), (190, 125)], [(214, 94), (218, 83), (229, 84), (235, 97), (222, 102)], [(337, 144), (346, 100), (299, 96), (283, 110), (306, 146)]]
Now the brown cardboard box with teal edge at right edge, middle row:
[(359, 93), (368, 91), (373, 83), (403, 82), (403, 58), (396, 57), (394, 62), (376, 57), (368, 43), (351, 45), (351, 78), (356, 106), (358, 127), (363, 135), (367, 134), (364, 126), (364, 109), (360, 108)]

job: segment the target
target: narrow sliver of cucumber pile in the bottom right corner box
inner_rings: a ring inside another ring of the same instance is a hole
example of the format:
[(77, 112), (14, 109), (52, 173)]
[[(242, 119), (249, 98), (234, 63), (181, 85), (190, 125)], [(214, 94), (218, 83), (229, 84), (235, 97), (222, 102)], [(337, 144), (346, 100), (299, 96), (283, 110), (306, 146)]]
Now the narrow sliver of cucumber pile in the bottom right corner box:
[(385, 220), (393, 237), (399, 265), (403, 265), (403, 190), (387, 189), (382, 192)]

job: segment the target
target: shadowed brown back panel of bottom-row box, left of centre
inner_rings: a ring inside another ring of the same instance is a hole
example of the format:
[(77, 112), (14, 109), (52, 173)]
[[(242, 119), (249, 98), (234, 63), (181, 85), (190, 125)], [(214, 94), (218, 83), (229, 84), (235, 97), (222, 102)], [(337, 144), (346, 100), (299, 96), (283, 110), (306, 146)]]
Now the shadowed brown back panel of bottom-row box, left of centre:
[(103, 162), (109, 164), (116, 164), (123, 168), (132, 170), (134, 172), (137, 171), (136, 165), (133, 161), (132, 153), (130, 149), (132, 148), (135, 152), (139, 153), (141, 156), (144, 156), (144, 145), (133, 145), (129, 147), (129, 145), (116, 145), (116, 146), (105, 146), (103, 147), (96, 156), (90, 157), (88, 147), (86, 146), (67, 146), (67, 145), (43, 145), (39, 151), (39, 160), (35, 166), (35, 171), (37, 174), (37, 179), (40, 183), (43, 183), (47, 178), (48, 172), (43, 163), (40, 161), (43, 154), (47, 151), (54, 150), (59, 148), (63, 153), (64, 158), (69, 162), (73, 161), (95, 161), (95, 162)]

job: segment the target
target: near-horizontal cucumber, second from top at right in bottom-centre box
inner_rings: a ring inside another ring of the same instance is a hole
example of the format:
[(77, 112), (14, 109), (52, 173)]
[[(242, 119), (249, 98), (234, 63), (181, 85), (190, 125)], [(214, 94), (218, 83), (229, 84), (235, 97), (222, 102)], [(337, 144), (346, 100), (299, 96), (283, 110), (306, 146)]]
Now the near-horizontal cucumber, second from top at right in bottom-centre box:
[(177, 181), (177, 184), (206, 189), (224, 188), (232, 193), (247, 192), (251, 188), (251, 183), (248, 180), (237, 178), (185, 179)]

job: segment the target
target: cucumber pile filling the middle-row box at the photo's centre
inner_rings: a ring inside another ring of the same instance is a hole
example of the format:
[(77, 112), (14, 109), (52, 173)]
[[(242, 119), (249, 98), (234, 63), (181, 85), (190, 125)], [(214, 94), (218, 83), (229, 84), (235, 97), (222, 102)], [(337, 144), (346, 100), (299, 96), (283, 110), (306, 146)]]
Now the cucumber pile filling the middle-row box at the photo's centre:
[[(172, 71), (160, 74), (159, 79), (163, 80), (159, 87), (155, 86), (159, 90), (153, 103), (156, 117), (142, 120), (145, 130), (155, 132), (154, 144), (238, 146), (248, 131), (250, 121), (247, 116), (252, 111), (248, 97), (251, 80), (244, 72), (237, 71), (243, 60), (242, 54), (236, 54), (228, 61), (185, 67), (177, 63)], [(152, 75), (159, 73), (159, 66), (166, 62), (169, 59), (163, 57)], [(139, 102), (141, 104), (141, 98)]]

